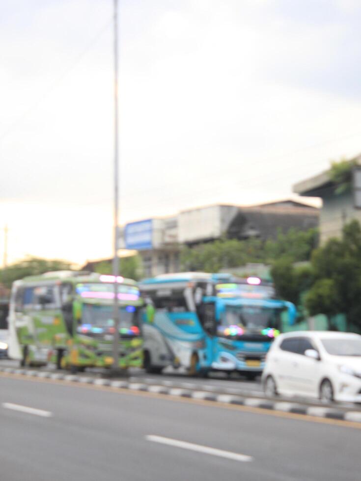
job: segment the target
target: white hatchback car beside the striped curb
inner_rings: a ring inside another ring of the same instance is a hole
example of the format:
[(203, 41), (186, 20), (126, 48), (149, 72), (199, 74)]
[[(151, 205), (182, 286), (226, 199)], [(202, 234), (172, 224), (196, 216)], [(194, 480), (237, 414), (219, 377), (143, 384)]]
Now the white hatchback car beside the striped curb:
[(267, 396), (361, 402), (361, 336), (329, 331), (281, 334), (266, 357)]

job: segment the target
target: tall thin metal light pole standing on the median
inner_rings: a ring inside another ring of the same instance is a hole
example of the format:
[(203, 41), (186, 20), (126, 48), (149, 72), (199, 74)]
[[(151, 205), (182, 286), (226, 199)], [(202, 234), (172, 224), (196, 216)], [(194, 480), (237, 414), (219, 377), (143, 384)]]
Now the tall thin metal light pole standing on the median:
[(119, 370), (119, 302), (118, 302), (118, 218), (119, 218), (119, 159), (118, 159), (118, 0), (114, 2), (114, 333), (113, 333), (113, 372)]

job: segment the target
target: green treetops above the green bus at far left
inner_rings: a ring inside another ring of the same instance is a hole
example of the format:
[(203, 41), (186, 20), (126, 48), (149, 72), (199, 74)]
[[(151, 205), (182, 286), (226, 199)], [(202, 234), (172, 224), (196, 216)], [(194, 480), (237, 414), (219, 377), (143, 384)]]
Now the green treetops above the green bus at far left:
[(1, 269), (1, 282), (8, 288), (11, 284), (29, 275), (39, 275), (53, 270), (69, 270), (71, 263), (57, 259), (41, 259), (40, 257), (27, 256), (25, 259)]

